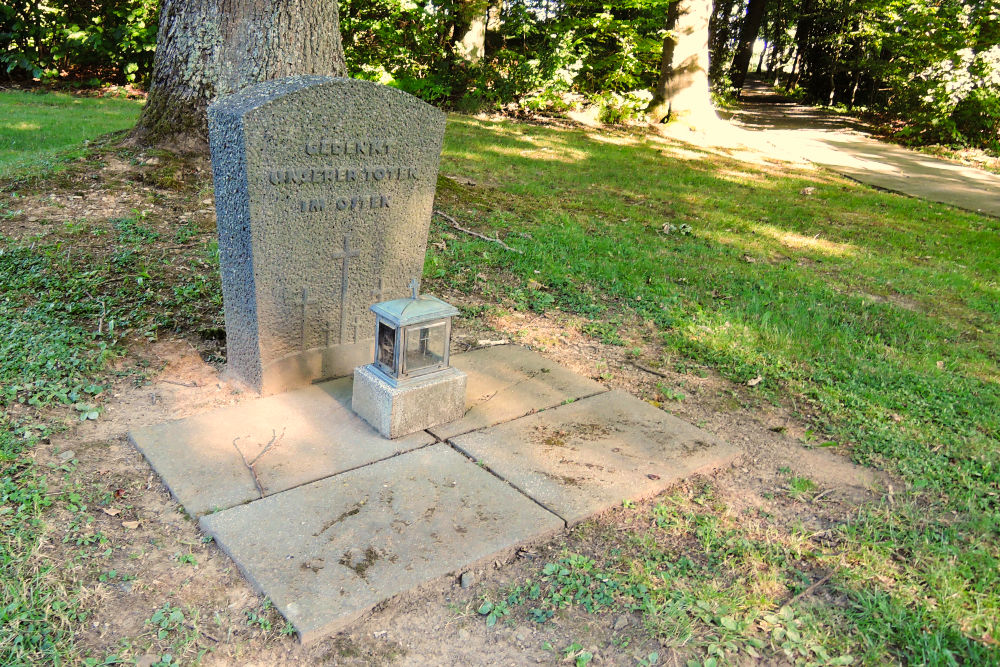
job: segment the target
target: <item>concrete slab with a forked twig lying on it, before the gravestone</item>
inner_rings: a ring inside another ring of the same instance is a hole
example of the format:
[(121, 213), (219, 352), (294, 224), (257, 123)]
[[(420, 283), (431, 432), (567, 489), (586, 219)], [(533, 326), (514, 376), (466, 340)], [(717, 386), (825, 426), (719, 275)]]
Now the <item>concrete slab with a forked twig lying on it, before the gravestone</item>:
[(387, 440), (350, 405), (351, 379), (341, 378), (136, 429), (129, 439), (193, 516), (434, 442), (424, 431)]

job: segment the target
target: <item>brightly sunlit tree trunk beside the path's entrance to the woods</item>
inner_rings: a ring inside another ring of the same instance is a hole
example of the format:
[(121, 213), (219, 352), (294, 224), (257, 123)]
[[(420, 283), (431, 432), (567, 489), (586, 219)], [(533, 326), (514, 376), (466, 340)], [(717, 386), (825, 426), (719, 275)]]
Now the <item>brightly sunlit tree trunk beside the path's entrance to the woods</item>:
[(708, 22), (712, 0), (678, 0), (667, 12), (660, 77), (646, 113), (654, 123), (687, 117), (717, 120), (708, 86)]

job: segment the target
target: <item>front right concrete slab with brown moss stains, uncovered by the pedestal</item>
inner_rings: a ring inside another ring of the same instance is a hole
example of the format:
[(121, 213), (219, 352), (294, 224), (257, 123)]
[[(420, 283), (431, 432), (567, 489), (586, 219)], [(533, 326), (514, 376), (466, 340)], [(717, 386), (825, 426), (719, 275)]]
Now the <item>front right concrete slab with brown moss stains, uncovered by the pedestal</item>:
[(450, 442), (573, 525), (656, 495), (740, 450), (620, 391), (584, 398)]

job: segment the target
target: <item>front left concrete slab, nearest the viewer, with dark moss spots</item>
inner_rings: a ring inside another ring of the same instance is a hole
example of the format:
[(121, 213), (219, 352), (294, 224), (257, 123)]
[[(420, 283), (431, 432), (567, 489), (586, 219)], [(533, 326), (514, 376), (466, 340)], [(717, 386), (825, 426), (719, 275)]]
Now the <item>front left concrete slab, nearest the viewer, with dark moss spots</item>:
[(445, 444), (204, 516), (303, 642), (563, 522)]

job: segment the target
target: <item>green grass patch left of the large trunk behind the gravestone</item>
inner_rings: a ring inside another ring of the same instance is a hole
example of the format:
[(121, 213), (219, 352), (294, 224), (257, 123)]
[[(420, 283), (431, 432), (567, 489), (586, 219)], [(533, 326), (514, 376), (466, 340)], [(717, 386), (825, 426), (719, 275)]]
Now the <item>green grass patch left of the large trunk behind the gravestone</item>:
[(0, 93), (0, 179), (45, 173), (84, 142), (135, 125), (142, 102), (65, 93)]

